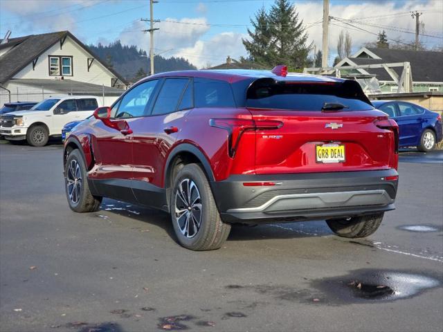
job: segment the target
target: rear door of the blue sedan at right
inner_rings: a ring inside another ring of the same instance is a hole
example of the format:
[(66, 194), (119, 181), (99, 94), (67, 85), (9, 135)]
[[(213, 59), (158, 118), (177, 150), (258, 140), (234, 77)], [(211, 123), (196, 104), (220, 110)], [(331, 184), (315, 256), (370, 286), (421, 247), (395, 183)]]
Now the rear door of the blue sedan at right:
[(409, 102), (397, 102), (400, 146), (417, 145), (422, 135), (423, 113), (421, 109)]

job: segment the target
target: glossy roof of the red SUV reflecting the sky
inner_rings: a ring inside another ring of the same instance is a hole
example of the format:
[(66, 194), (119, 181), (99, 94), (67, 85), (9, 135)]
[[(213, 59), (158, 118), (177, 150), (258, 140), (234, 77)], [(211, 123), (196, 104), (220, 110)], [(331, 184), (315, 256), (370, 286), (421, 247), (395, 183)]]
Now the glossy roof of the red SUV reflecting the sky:
[(143, 80), (151, 80), (157, 77), (200, 77), (213, 80), (224, 80), (234, 83), (241, 80), (257, 80), (260, 78), (272, 78), (278, 81), (296, 82), (344, 82), (341, 78), (302, 73), (288, 73), (286, 76), (277, 75), (272, 71), (258, 71), (247, 69), (223, 69), (223, 70), (201, 70), (201, 71), (169, 71), (145, 77)]

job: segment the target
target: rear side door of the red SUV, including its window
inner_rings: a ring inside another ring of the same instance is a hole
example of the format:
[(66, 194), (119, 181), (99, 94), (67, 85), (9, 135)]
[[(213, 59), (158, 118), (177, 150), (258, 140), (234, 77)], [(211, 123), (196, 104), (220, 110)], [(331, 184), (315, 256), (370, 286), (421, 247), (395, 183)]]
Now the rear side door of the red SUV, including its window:
[(150, 115), (131, 124), (134, 131), (134, 193), (140, 203), (161, 205), (165, 160), (192, 109), (192, 80), (171, 77), (159, 83)]

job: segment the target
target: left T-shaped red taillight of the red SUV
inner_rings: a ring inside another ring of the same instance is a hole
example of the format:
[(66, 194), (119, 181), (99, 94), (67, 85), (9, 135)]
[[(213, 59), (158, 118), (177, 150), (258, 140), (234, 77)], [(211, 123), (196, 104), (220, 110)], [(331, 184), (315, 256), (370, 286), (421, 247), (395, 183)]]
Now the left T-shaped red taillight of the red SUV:
[(282, 127), (283, 122), (273, 120), (210, 119), (209, 124), (211, 127), (228, 131), (228, 153), (233, 158), (244, 131), (278, 129)]

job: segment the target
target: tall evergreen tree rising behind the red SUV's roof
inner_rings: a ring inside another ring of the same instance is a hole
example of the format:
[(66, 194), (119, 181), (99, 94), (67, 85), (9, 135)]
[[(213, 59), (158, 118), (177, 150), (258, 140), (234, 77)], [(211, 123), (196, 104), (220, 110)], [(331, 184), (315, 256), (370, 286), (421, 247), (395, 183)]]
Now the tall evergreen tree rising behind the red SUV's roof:
[(254, 31), (248, 30), (251, 40), (243, 39), (249, 57), (264, 66), (286, 64), (292, 70), (307, 62), (311, 45), (303, 21), (289, 0), (275, 0), (269, 13), (264, 8), (251, 19)]

